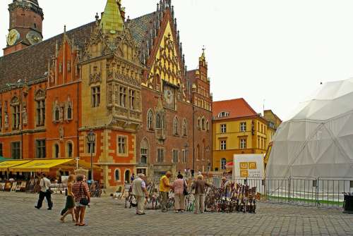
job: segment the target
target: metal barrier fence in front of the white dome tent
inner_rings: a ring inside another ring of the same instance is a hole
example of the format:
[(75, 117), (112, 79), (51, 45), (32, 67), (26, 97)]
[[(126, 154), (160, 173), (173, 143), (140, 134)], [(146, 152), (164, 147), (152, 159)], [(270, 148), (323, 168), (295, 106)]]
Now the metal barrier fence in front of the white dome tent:
[[(213, 182), (220, 184), (217, 178)], [(236, 178), (236, 183), (256, 187), (261, 201), (326, 208), (342, 208), (345, 193), (353, 192), (353, 178)]]

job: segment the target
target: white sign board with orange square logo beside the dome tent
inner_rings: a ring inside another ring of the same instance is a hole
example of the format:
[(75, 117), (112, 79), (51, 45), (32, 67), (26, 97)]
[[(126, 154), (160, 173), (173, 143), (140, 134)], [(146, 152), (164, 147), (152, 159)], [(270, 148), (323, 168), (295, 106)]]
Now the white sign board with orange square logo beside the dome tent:
[(264, 178), (263, 154), (234, 154), (233, 178)]

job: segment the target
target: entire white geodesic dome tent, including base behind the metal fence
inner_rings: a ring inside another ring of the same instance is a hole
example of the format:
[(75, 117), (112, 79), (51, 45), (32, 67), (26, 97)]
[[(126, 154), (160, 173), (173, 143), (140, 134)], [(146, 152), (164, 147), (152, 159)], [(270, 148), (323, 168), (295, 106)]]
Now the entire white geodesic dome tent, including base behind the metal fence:
[(273, 137), (265, 171), (286, 183), (269, 181), (272, 196), (342, 204), (353, 187), (353, 79), (325, 83), (299, 105)]

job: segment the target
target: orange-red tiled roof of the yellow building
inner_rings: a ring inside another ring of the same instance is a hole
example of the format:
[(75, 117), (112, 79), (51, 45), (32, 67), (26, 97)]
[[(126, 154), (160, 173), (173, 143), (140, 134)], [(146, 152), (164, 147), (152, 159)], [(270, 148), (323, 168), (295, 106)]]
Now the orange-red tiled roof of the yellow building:
[[(229, 116), (218, 118), (218, 114), (221, 112), (227, 112), (229, 113)], [(243, 98), (213, 102), (213, 117), (215, 120), (247, 116), (257, 116), (257, 113)]]

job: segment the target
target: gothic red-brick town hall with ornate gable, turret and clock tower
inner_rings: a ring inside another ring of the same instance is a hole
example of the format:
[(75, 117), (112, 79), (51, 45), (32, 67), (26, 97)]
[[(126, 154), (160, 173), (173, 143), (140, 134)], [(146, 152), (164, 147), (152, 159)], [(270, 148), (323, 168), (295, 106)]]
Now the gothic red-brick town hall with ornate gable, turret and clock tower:
[(47, 40), (37, 0), (13, 0), (8, 11), (1, 156), (90, 163), (92, 150), (95, 179), (107, 188), (131, 173), (210, 168), (208, 65), (202, 53), (198, 68), (187, 70), (170, 0), (135, 19), (121, 0), (107, 0), (91, 23)]

